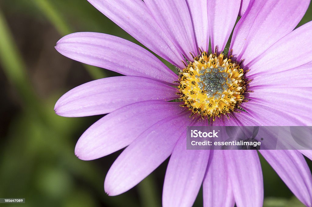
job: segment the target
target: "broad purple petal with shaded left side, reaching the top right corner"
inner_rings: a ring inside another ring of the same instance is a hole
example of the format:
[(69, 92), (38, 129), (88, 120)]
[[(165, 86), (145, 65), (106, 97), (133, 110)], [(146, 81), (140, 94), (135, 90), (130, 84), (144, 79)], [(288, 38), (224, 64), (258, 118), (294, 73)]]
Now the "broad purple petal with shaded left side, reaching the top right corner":
[(233, 49), (237, 60), (244, 59), (247, 65), (290, 33), (300, 22), (309, 3), (310, 0), (251, 2), (234, 29), (230, 50)]

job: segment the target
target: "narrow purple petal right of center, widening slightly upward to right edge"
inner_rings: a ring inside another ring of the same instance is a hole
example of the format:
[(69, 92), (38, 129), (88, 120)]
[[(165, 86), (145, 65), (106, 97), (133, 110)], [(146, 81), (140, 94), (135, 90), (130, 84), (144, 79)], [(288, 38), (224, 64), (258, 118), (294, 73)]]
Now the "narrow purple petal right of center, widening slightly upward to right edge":
[[(248, 89), (312, 87), (312, 62), (274, 74), (253, 77)], [(304, 74), (304, 75), (303, 75)], [(288, 89), (287, 89), (288, 90)]]

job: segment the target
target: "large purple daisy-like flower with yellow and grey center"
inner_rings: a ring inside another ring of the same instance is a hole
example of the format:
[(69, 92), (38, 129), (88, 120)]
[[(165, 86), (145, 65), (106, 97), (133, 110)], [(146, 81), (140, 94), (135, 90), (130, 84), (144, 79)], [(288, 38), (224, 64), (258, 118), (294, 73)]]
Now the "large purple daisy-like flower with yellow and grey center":
[[(89, 2), (179, 72), (108, 34), (79, 32), (57, 42), (56, 50), (71, 59), (126, 75), (80, 85), (55, 106), (66, 117), (109, 113), (75, 148), (80, 159), (92, 160), (126, 147), (107, 173), (108, 195), (134, 187), (171, 155), (163, 206), (192, 206), (201, 185), (204, 206), (262, 206), (257, 152), (186, 150), (186, 127), (312, 124), (312, 22), (295, 29), (310, 1)], [(312, 206), (312, 176), (302, 155), (312, 159), (312, 152), (260, 153), (294, 195)]]

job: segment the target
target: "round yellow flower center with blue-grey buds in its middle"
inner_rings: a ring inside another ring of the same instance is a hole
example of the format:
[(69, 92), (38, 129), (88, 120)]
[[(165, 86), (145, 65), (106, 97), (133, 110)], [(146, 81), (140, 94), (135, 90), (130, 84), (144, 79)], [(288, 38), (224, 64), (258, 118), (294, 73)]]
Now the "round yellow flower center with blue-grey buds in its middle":
[(184, 101), (181, 106), (192, 111), (191, 116), (199, 113), (215, 121), (221, 114), (240, 113), (236, 109), (247, 102), (243, 94), (251, 91), (246, 91), (249, 81), (244, 81), (244, 70), (231, 57), (227, 58), (223, 52), (209, 56), (202, 52), (180, 72), (177, 94)]

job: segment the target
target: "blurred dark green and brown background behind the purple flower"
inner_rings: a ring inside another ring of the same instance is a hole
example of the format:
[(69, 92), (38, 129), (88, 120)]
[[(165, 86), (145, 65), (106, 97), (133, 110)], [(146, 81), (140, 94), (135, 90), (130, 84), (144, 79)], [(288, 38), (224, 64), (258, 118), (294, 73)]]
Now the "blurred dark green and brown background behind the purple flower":
[[(311, 20), (310, 6), (300, 25)], [(78, 31), (138, 43), (86, 0), (0, 1), (0, 198), (26, 198), (25, 204), (0, 206), (161, 206), (168, 160), (133, 189), (110, 197), (103, 182), (121, 151), (94, 161), (74, 155), (77, 139), (101, 116), (64, 118), (53, 111), (73, 87), (118, 75), (54, 49), (62, 36)], [(285, 58), (291, 52), (296, 51)], [(264, 206), (303, 206), (262, 157), (261, 162)], [(194, 206), (202, 206), (201, 192)]]

